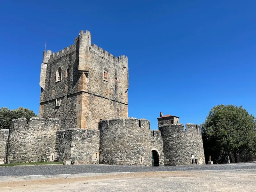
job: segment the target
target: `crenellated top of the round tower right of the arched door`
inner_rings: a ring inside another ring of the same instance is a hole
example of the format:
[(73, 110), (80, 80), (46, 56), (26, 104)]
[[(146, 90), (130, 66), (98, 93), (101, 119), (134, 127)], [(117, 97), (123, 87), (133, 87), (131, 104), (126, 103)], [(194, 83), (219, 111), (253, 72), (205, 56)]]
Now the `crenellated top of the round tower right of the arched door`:
[(159, 126), (159, 130), (170, 131), (170, 132), (196, 132), (201, 134), (201, 127), (198, 124), (187, 123), (186, 129), (184, 129), (184, 124), (163, 124)]

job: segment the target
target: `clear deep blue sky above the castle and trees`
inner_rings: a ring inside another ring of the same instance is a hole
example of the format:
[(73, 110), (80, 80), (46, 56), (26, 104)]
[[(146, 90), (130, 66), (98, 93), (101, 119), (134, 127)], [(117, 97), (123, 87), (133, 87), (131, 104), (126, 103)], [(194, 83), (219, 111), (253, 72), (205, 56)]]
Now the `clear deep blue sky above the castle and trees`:
[(38, 114), (46, 49), (74, 44), (80, 30), (127, 55), (129, 116), (157, 129), (162, 111), (203, 123), (218, 104), (256, 115), (256, 1), (2, 1), (0, 107)]

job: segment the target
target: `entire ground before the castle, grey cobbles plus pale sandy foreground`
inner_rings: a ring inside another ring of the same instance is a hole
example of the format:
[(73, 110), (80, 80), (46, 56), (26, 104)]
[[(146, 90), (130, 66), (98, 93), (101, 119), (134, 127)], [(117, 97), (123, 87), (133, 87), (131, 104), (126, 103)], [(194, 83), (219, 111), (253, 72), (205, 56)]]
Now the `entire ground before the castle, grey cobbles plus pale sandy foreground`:
[[(0, 191), (256, 191), (256, 163), (1, 166)], [(11, 177), (10, 177), (11, 176)]]

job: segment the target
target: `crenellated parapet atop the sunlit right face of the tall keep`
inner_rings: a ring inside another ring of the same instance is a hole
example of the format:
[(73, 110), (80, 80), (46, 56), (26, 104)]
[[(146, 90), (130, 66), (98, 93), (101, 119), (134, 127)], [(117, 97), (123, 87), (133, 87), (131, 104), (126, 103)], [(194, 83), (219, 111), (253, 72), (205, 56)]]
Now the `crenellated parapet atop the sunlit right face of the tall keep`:
[(127, 68), (127, 63), (128, 63), (128, 57), (125, 55), (121, 55), (118, 58), (113, 56), (111, 53), (108, 53), (106, 50), (103, 50), (101, 47), (98, 47), (96, 44), (92, 44), (90, 47), (91, 50), (94, 52), (98, 53), (101, 57), (115, 63), (119, 62), (123, 65), (123, 67)]

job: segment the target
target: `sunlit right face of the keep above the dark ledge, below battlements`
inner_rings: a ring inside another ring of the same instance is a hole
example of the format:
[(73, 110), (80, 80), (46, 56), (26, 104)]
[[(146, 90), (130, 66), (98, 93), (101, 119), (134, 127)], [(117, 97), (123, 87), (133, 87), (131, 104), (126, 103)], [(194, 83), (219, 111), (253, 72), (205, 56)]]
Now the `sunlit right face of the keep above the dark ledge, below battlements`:
[[(127, 104), (126, 91), (129, 86), (127, 62), (111, 62), (93, 49), (90, 50), (90, 59), (88, 91)], [(103, 80), (105, 68), (108, 70), (108, 81)]]

